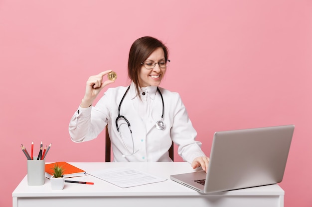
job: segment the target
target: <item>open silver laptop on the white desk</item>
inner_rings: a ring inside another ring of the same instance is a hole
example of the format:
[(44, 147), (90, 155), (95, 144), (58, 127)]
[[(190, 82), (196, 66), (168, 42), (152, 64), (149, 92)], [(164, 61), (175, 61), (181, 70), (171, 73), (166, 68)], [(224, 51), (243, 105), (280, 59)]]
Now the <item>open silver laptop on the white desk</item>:
[(207, 173), (170, 179), (203, 194), (280, 183), (294, 129), (285, 125), (216, 132)]

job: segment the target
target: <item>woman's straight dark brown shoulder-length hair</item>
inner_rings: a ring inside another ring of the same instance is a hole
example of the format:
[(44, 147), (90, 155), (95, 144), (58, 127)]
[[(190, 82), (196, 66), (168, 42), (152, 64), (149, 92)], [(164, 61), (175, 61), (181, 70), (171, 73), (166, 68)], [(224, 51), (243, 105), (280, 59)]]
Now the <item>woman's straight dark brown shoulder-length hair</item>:
[[(128, 60), (128, 76), (135, 83), (137, 94), (140, 93), (139, 72), (143, 63), (157, 49), (162, 48), (164, 59), (168, 59), (168, 49), (159, 40), (154, 37), (141, 37), (131, 46)], [(139, 96), (141, 97), (141, 96)]]

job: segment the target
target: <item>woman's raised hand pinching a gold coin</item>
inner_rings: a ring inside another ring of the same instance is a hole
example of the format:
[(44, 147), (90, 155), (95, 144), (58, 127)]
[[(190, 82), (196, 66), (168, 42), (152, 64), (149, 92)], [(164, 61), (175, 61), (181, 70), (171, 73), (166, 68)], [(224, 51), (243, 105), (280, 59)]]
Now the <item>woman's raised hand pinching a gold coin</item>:
[(88, 108), (92, 105), (95, 98), (98, 96), (100, 91), (108, 84), (111, 84), (115, 82), (114, 80), (106, 80), (103, 82), (103, 76), (107, 75), (112, 70), (106, 70), (103, 72), (100, 72), (97, 75), (92, 75), (87, 80), (86, 84), (86, 92), (85, 96), (83, 97), (80, 107), (82, 108)]

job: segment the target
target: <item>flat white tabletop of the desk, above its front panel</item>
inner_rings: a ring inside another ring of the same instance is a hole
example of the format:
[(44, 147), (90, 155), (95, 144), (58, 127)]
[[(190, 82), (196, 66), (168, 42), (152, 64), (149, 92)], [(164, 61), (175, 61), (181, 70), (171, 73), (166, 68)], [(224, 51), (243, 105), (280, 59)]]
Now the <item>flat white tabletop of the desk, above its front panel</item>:
[[(115, 163), (115, 162), (90, 162), (90, 163), (80, 163), (71, 162), (70, 164), (75, 165), (81, 169), (84, 169), (87, 173), (88, 171), (113, 168), (113, 167), (130, 167), (142, 172), (147, 172), (156, 175), (161, 178), (167, 179), (164, 182), (147, 184), (142, 186), (130, 187), (130, 188), (120, 188), (112, 185), (106, 181), (100, 180), (90, 175), (67, 178), (68, 180), (77, 181), (87, 181), (94, 182), (94, 185), (84, 185), (84, 184), (74, 184), (65, 183), (65, 187), (61, 191), (51, 190), (50, 180), (45, 179), (45, 183), (42, 186), (28, 186), (27, 185), (27, 175), (16, 187), (12, 193), (13, 206), (18, 206), (19, 200), (23, 198), (112, 198), (112, 197), (172, 197), (172, 198), (182, 198), (182, 197), (277, 197), (282, 198), (284, 201), (284, 191), (279, 185), (269, 185), (261, 186), (256, 188), (240, 189), (235, 191), (226, 191), (213, 193), (208, 195), (203, 195), (195, 190), (187, 188), (179, 183), (170, 180), (169, 176), (172, 174), (193, 172), (189, 163), (186, 162), (148, 162), (148, 163)], [(26, 200), (26, 199), (24, 199)], [(279, 201), (279, 207), (283, 206), (283, 201)], [(102, 203), (103, 204), (103, 203)], [(19, 205), (20, 206), (20, 205)]]

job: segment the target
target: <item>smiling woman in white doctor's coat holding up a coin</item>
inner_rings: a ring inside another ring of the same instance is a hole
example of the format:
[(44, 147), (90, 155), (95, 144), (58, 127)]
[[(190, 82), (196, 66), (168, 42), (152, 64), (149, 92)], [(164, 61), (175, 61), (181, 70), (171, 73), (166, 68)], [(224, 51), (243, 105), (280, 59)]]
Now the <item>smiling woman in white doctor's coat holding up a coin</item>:
[(108, 88), (94, 107), (97, 95), (114, 80), (105, 80), (112, 70), (90, 76), (70, 120), (72, 140), (94, 139), (108, 125), (115, 162), (172, 161), (168, 149), (173, 141), (183, 160), (207, 172), (209, 158), (201, 142), (195, 141), (196, 131), (179, 94), (158, 87), (169, 62), (162, 42), (153, 37), (137, 39), (129, 53), (130, 86)]

